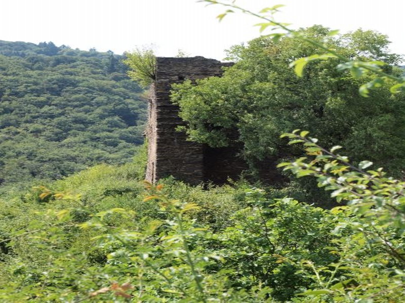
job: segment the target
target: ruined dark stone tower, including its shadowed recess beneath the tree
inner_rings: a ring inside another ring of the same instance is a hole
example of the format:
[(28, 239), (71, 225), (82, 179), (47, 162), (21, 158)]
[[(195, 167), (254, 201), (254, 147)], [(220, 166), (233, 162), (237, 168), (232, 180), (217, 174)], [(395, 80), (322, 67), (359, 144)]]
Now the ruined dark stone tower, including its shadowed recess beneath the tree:
[[(161, 178), (173, 176), (189, 184), (207, 181), (221, 184), (228, 178), (238, 179), (239, 174), (248, 168), (245, 161), (236, 156), (235, 146), (212, 148), (187, 141), (185, 133), (176, 131), (176, 127), (184, 122), (178, 116), (178, 106), (170, 100), (173, 83), (221, 76), (222, 67), (230, 65), (232, 63), (204, 57), (156, 58), (146, 129), (146, 180), (155, 183)], [(265, 166), (268, 168), (270, 164)], [(272, 177), (271, 172), (263, 174), (264, 179)]]

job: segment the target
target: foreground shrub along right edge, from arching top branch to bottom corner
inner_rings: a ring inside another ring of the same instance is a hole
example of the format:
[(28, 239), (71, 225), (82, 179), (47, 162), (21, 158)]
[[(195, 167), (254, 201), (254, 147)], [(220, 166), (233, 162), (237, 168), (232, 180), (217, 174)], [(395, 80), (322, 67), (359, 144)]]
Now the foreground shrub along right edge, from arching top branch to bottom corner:
[[(334, 230), (349, 228), (352, 235), (327, 247), (338, 261), (326, 267), (301, 261), (301, 273), (313, 279), (312, 289), (303, 293), (309, 296), (307, 301), (401, 301), (405, 295), (405, 182), (387, 177), (382, 168), (370, 170), (370, 161), (352, 164), (336, 153), (341, 146), (323, 148), (316, 138), (308, 137), (308, 131), (296, 130), (282, 137), (288, 137), (290, 144), (302, 143), (308, 157), (279, 167), (297, 177), (315, 177), (319, 187), (333, 190), (331, 196), (338, 201), (347, 201), (335, 212), (351, 218)], [(336, 283), (337, 275), (346, 279)]]

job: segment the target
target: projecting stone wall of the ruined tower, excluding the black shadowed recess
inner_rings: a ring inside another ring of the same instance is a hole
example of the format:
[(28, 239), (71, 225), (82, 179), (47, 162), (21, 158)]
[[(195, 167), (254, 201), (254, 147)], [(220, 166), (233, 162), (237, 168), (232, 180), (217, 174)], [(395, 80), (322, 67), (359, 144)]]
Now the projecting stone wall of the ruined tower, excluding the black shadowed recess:
[(146, 179), (155, 182), (174, 176), (190, 184), (204, 181), (204, 146), (186, 140), (186, 135), (175, 130), (182, 125), (178, 106), (170, 101), (173, 83), (220, 76), (222, 66), (229, 65), (204, 57), (156, 58), (156, 80), (151, 87)]

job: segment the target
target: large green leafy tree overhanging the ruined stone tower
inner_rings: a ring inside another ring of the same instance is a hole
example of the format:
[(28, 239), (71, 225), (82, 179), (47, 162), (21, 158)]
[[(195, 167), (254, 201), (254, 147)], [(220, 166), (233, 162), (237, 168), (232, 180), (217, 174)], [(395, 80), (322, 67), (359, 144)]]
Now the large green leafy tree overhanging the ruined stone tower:
[[(329, 29), (313, 26), (302, 31), (323, 41)], [(389, 54), (385, 35), (357, 30), (326, 43), (349, 58), (387, 62), (387, 72), (399, 73), (394, 67), (399, 56)], [(345, 146), (353, 160), (370, 159), (398, 171), (405, 165), (404, 94), (393, 95), (381, 87), (370, 97), (360, 96), (359, 85), (375, 76), (354, 79), (336, 69), (337, 59), (309, 63), (302, 78), (289, 67), (319, 52), (290, 37), (278, 42), (261, 37), (232, 47), (229, 59), (236, 63), (223, 77), (174, 86), (172, 97), (187, 122), (183, 130), (191, 140), (211, 146), (229, 145), (236, 131), (242, 154), (262, 159), (289, 155), (292, 150), (279, 135), (306, 129), (331, 146)]]

